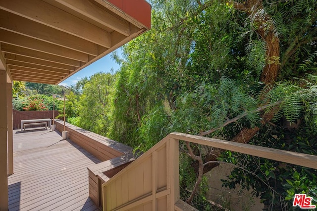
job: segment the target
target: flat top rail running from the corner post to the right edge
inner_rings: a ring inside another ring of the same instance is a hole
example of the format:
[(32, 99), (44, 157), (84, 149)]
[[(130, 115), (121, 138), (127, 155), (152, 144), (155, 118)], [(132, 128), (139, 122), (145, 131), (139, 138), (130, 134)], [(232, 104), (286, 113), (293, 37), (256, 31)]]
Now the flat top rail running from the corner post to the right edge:
[(171, 133), (171, 138), (183, 141), (189, 141), (196, 144), (203, 144), (210, 147), (216, 147), (233, 152), (244, 153), (247, 155), (257, 156), (261, 158), (273, 159), (281, 162), (292, 163), (309, 168), (317, 169), (317, 156), (307, 155), (303, 153), (295, 153), (285, 150), (277, 150), (272, 148), (260, 147), (249, 144), (224, 141), (220, 139), (212, 139), (202, 136), (195, 136), (183, 133)]

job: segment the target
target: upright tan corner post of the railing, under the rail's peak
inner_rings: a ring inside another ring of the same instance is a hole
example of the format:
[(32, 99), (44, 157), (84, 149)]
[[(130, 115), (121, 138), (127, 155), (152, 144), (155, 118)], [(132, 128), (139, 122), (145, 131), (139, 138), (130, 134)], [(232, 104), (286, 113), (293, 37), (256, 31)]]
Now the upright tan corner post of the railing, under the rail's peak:
[(179, 200), (179, 140), (169, 139), (170, 158), (170, 211), (174, 211), (175, 203)]

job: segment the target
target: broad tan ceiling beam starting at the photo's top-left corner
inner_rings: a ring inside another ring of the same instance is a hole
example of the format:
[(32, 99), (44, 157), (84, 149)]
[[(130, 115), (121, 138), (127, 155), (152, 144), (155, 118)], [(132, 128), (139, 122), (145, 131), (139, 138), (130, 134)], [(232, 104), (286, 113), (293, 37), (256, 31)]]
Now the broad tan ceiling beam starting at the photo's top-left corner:
[(1, 0), (0, 8), (110, 48), (110, 33), (42, 0)]

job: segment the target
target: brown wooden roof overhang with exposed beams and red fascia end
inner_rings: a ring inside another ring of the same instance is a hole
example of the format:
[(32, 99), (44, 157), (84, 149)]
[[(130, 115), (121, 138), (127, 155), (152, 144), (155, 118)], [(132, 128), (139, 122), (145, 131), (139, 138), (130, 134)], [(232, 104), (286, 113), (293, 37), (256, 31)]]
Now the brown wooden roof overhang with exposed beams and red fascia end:
[(146, 0), (0, 0), (0, 66), (58, 84), (150, 27)]

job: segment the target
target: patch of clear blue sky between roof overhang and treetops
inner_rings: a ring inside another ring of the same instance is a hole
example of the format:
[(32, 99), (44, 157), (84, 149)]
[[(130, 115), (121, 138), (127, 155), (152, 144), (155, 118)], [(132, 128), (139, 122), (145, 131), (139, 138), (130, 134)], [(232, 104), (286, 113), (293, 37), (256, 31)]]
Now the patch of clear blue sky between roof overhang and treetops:
[[(122, 50), (121, 48), (115, 50), (115, 52), (118, 53), (118, 55), (121, 55)], [(87, 76), (92, 76), (97, 72), (110, 72), (111, 68), (113, 68), (114, 71), (120, 68), (120, 65), (115, 63), (114, 60), (111, 58), (111, 53), (107, 54), (103, 58), (99, 59), (98, 61), (95, 61), (94, 63), (88, 65), (87, 67), (83, 68), (79, 72), (75, 73), (74, 75), (70, 76), (63, 82), (59, 83), (59, 85), (63, 86), (71, 86), (77, 83), (80, 79)]]

